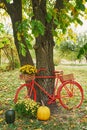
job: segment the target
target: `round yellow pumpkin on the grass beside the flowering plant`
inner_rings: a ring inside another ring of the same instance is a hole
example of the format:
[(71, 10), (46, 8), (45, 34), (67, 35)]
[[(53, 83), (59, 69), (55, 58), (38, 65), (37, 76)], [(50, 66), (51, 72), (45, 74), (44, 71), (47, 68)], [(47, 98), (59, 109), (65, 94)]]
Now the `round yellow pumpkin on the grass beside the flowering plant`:
[(49, 107), (43, 105), (40, 106), (37, 110), (37, 119), (38, 120), (48, 120), (50, 118), (50, 109)]

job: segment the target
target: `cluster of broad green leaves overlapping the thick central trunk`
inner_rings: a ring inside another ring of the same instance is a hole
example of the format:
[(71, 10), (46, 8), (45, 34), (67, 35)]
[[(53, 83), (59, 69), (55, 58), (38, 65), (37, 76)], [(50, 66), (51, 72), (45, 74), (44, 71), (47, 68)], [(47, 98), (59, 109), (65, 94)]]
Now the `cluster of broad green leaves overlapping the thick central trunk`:
[(35, 37), (44, 35), (45, 27), (39, 20), (32, 20), (31, 22), (32, 33)]

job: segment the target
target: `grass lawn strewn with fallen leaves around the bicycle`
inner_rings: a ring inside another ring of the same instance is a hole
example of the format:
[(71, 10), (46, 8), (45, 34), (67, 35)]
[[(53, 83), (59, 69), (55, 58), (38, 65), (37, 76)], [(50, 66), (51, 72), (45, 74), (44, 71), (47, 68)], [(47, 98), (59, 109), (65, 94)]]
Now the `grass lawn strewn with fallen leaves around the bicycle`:
[(5, 112), (13, 106), (16, 88), (23, 83), (19, 80), (18, 70), (0, 73), (0, 130), (87, 130), (87, 66), (59, 65), (64, 74), (74, 73), (84, 90), (84, 102), (79, 109), (65, 110), (60, 105), (58, 113), (51, 115), (48, 121), (18, 118), (14, 124), (5, 122)]

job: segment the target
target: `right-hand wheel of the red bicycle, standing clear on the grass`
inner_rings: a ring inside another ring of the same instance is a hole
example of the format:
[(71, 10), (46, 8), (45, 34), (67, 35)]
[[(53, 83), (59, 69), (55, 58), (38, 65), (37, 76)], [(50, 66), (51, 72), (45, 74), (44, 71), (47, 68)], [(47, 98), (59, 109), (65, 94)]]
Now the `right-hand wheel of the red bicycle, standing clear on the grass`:
[(64, 108), (79, 108), (83, 102), (83, 89), (76, 81), (67, 81), (59, 87), (58, 97)]

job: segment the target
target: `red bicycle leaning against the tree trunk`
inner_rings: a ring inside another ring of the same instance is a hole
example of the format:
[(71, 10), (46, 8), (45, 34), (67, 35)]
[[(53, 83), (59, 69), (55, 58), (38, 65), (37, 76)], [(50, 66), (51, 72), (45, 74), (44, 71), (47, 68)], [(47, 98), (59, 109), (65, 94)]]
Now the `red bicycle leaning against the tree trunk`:
[[(40, 69), (43, 71), (46, 69)], [(38, 71), (38, 72), (39, 72)], [(36, 82), (35, 79), (55, 79), (54, 91), (49, 93), (43, 86)], [(16, 103), (19, 98), (29, 97), (34, 101), (37, 99), (37, 86), (48, 97), (48, 104), (59, 100), (60, 104), (66, 109), (79, 108), (83, 102), (83, 89), (81, 85), (74, 80), (73, 74), (63, 75), (63, 71), (55, 71), (53, 76), (34, 76), (29, 78), (29, 83), (22, 84), (17, 90), (14, 97)], [(27, 89), (26, 89), (27, 88)]]

